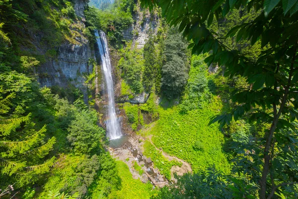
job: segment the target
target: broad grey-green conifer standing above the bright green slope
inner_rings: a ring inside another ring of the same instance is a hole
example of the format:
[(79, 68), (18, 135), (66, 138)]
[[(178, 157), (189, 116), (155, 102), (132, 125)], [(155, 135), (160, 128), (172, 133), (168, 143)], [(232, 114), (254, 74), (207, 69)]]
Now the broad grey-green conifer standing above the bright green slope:
[(177, 30), (171, 29), (164, 41), (165, 62), (161, 68), (161, 91), (168, 99), (183, 91), (188, 78), (187, 43)]

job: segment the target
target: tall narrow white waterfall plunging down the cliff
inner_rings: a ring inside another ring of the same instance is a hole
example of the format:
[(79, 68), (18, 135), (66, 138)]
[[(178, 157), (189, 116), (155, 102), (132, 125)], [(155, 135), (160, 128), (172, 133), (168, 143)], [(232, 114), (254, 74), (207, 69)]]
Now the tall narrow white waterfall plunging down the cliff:
[(95, 31), (96, 41), (99, 48), (101, 68), (103, 76), (106, 82), (105, 92), (108, 94), (108, 111), (106, 112), (106, 126), (107, 126), (107, 137), (109, 139), (117, 139), (121, 136), (120, 124), (115, 112), (115, 100), (114, 100), (114, 86), (112, 79), (112, 66), (109, 55), (108, 42), (103, 31)]

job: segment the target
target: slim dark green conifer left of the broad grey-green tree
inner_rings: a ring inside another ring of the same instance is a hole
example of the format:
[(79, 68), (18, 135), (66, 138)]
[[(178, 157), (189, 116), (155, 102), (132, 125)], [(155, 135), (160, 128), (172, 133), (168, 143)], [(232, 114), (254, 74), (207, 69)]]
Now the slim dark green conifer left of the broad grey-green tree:
[(156, 52), (152, 30), (149, 32), (149, 38), (144, 45), (143, 57), (145, 67), (143, 75), (143, 85), (146, 91), (150, 91), (156, 75)]

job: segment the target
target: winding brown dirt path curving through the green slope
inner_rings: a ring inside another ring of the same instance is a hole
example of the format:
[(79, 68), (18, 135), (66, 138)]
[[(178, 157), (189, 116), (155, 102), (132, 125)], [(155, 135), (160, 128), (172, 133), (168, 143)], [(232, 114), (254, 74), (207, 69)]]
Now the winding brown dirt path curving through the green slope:
[(173, 167), (171, 168), (171, 180), (174, 180), (174, 175), (173, 175), (173, 173), (177, 173), (177, 175), (179, 175), (179, 176), (182, 176), (183, 174), (185, 174), (185, 173), (189, 173), (189, 172), (192, 173), (192, 169), (191, 169), (191, 166), (190, 166), (189, 163), (187, 163), (187, 162), (185, 162), (184, 160), (181, 160), (181, 159), (179, 159), (179, 158), (177, 158), (177, 157), (175, 157), (175, 156), (170, 156), (170, 155), (168, 155), (167, 153), (163, 152), (162, 150), (158, 149), (158, 148), (153, 144), (153, 142), (152, 142), (152, 140), (151, 140), (152, 135), (149, 135), (148, 138), (149, 138), (150, 143), (155, 147), (155, 149), (156, 149), (157, 151), (161, 152), (161, 154), (162, 154), (165, 158), (167, 158), (169, 161), (176, 160), (176, 161), (182, 163), (182, 166), (181, 166), (181, 167), (173, 166)]

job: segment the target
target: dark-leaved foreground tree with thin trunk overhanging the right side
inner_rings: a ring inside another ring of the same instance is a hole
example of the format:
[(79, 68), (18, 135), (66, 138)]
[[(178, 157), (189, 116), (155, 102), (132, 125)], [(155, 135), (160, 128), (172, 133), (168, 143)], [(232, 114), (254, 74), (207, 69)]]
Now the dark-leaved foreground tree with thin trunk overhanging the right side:
[[(249, 88), (235, 88), (232, 92), (235, 106), (215, 116), (212, 122), (218, 121), (223, 126), (249, 113), (250, 120), (269, 124), (263, 138), (255, 139), (255, 145), (250, 146), (257, 147), (256, 150), (250, 148), (246, 154), (257, 164), (254, 168), (259, 172), (252, 181), (258, 184), (260, 199), (295, 189), (298, 183), (295, 144), (298, 133), (295, 124), (298, 118), (298, 1), (142, 0), (142, 3), (150, 8), (160, 6), (167, 22), (179, 26), (179, 31), (193, 41), (190, 44), (193, 53), (211, 52), (206, 63), (224, 66), (225, 76), (240, 75), (251, 84)], [(219, 20), (233, 9), (248, 12), (254, 9), (257, 16), (233, 26), (224, 38), (210, 31), (214, 16)], [(260, 41), (261, 47), (266, 48), (256, 58), (251, 58), (224, 45), (228, 37), (236, 42), (250, 40), (251, 46)], [(284, 170), (283, 175), (281, 170)]]

